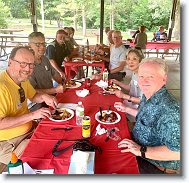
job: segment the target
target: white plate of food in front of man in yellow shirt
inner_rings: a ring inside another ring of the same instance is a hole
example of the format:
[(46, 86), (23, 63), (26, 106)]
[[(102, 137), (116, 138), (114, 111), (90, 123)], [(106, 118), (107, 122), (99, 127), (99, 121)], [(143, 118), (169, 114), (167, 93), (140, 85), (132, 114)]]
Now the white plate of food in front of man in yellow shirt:
[(73, 110), (67, 108), (57, 108), (53, 110), (51, 117), (49, 117), (49, 119), (55, 122), (63, 122), (73, 118), (73, 116)]

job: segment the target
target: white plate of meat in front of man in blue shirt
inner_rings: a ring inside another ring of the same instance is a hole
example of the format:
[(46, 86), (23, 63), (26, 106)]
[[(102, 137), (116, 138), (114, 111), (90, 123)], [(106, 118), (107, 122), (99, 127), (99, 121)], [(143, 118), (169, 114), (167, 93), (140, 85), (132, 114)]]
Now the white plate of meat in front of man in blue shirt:
[(97, 112), (95, 114), (95, 119), (102, 124), (115, 124), (121, 120), (121, 116), (112, 110), (102, 110), (102, 115), (100, 111)]

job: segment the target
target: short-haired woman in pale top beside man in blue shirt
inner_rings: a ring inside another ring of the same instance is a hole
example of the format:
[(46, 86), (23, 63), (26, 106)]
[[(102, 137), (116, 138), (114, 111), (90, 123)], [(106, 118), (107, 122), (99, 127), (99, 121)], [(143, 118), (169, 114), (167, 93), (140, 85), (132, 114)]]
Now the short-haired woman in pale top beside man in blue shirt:
[[(142, 92), (138, 86), (138, 67), (144, 55), (141, 49), (131, 48), (128, 51), (126, 64), (128, 69), (133, 72), (131, 81), (128, 85), (112, 79), (111, 82), (117, 84), (118, 86), (124, 88), (129, 94), (125, 94), (122, 91), (115, 91), (115, 95), (119, 98), (123, 98), (123, 103), (131, 109), (137, 109), (140, 99), (142, 97)], [(131, 122), (135, 122), (135, 118), (127, 114), (127, 118)]]

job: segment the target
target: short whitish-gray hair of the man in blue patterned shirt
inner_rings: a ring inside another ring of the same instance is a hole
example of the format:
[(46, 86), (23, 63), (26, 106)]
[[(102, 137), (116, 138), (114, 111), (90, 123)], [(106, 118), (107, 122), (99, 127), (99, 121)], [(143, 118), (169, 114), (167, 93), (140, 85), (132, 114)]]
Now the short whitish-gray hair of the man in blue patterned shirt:
[(153, 63), (153, 64), (159, 64), (161, 70), (165, 73), (168, 74), (168, 66), (166, 64), (166, 60), (157, 58), (157, 57), (151, 57), (151, 58), (145, 58), (142, 60), (139, 66), (143, 65), (144, 63)]

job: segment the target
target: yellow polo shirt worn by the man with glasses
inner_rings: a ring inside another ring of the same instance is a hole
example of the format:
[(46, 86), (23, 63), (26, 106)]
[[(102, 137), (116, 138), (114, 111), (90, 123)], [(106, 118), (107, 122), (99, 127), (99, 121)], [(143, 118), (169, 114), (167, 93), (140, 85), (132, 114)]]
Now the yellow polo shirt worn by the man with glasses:
[[(16, 117), (29, 113), (27, 98), (33, 98), (36, 91), (29, 80), (21, 83), (25, 92), (25, 101), (20, 103), (20, 88), (7, 74), (6, 71), (0, 74), (0, 117)], [(1, 124), (0, 124), (1, 125)], [(8, 140), (27, 133), (32, 128), (32, 121), (14, 128), (0, 130), (0, 141)]]

